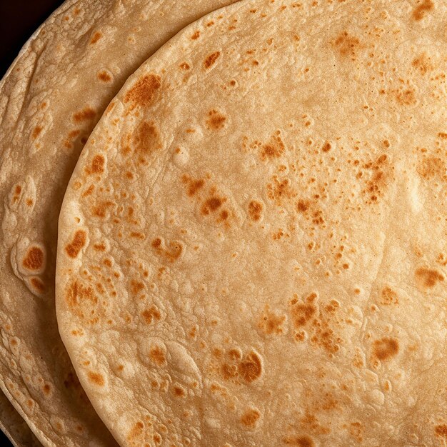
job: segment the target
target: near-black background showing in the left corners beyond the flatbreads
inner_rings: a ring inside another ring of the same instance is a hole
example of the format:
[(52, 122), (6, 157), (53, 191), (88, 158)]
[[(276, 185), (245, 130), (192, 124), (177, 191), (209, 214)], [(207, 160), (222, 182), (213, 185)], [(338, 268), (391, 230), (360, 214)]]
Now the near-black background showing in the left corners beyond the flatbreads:
[[(31, 34), (62, 3), (55, 0), (0, 0), (0, 78)], [(1, 431), (0, 446), (12, 447)]]

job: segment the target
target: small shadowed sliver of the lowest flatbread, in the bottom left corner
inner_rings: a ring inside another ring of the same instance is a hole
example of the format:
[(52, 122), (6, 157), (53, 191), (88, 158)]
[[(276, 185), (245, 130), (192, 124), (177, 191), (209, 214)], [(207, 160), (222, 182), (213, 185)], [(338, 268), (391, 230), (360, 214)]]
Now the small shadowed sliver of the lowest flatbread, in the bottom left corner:
[(0, 393), (0, 429), (14, 447), (41, 447), (41, 443), (4, 393)]

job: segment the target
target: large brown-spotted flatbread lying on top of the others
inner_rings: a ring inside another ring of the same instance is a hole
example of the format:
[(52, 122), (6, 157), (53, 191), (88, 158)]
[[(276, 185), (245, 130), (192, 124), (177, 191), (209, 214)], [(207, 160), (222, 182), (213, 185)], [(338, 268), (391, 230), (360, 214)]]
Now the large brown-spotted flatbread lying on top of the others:
[(243, 1), (111, 101), (56, 311), (121, 446), (446, 445), (446, 17)]

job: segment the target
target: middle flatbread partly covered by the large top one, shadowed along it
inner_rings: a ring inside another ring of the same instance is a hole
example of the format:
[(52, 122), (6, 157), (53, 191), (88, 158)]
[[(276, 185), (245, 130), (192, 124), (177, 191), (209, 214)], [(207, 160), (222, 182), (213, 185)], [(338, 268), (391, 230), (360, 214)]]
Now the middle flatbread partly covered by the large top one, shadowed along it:
[(56, 325), (57, 218), (96, 121), (129, 74), (231, 0), (67, 1), (0, 84), (0, 388), (46, 446), (116, 445)]

